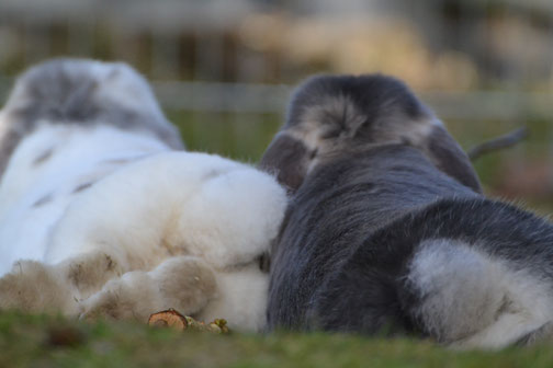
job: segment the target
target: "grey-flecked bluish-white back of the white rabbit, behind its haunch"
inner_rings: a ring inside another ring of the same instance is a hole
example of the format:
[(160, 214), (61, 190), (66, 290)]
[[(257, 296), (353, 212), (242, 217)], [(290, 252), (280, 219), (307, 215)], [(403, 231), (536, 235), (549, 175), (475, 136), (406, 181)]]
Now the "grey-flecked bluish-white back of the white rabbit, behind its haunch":
[[(49, 150), (47, 163), (33, 164)], [(123, 160), (167, 150), (156, 139), (109, 126), (44, 125), (23, 140), (0, 184), (0, 275), (20, 258), (46, 261), (52, 227), (80, 197), (72, 194), (77, 187), (102, 180), (123, 166)], [(48, 196), (50, 203), (33, 208)]]

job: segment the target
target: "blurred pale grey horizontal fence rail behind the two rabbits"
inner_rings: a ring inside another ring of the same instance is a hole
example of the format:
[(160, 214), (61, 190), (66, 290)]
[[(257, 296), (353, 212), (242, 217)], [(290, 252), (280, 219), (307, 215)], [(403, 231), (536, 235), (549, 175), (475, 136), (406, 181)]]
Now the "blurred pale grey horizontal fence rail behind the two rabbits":
[[(13, 83), (0, 78), (0, 101)], [(170, 111), (283, 115), (293, 91), (287, 84), (151, 81), (161, 105)], [(420, 97), (443, 119), (507, 120), (527, 117), (553, 124), (553, 94), (548, 92), (460, 91), (422, 92)]]

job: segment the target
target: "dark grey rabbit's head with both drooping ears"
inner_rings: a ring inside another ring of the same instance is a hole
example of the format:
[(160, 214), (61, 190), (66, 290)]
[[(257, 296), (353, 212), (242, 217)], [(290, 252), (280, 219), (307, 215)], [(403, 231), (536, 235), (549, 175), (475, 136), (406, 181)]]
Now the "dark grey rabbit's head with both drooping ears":
[(302, 83), (260, 168), (293, 192), (326, 160), (382, 145), (420, 149), (439, 170), (482, 191), (442, 123), (403, 82), (381, 74), (317, 76)]

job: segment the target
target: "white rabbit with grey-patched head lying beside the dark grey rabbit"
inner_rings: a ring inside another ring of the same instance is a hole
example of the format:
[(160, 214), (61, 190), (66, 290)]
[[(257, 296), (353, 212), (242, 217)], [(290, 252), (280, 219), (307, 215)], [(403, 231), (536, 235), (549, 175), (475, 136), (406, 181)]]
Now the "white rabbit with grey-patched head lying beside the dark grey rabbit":
[(135, 71), (37, 66), (0, 125), (19, 141), (2, 146), (0, 309), (144, 321), (177, 308), (246, 330), (264, 324), (259, 264), (284, 191), (246, 164), (174, 151), (177, 130)]

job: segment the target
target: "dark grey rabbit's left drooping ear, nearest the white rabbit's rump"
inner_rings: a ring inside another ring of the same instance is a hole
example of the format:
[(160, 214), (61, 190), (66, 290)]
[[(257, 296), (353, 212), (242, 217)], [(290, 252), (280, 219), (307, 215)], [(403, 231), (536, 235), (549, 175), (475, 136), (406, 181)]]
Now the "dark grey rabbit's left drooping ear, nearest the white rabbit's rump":
[(302, 185), (309, 164), (305, 143), (281, 131), (263, 153), (259, 169), (273, 174), (280, 184), (295, 192)]

